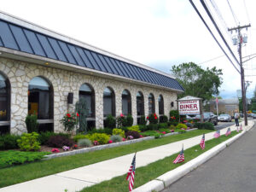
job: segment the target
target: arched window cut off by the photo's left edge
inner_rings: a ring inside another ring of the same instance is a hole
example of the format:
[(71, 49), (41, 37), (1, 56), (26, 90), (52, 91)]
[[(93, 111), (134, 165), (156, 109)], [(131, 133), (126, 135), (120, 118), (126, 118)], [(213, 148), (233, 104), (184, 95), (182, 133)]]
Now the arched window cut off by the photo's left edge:
[(9, 133), (10, 84), (0, 73), (0, 134)]

